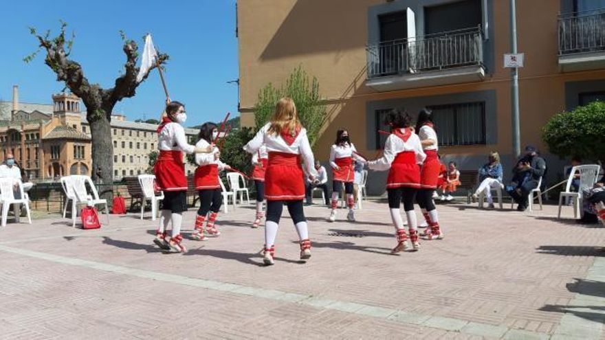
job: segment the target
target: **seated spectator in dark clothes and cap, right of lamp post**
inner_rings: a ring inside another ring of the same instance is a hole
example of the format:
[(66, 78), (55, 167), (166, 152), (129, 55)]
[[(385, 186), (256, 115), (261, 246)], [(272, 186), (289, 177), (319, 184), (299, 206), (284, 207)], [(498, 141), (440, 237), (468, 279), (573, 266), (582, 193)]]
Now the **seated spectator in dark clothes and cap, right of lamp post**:
[(529, 192), (538, 188), (538, 182), (546, 172), (546, 162), (538, 156), (535, 147), (528, 145), (525, 152), (513, 169), (511, 184), (506, 187), (506, 191), (518, 204), (517, 210), (520, 212), (527, 209)]

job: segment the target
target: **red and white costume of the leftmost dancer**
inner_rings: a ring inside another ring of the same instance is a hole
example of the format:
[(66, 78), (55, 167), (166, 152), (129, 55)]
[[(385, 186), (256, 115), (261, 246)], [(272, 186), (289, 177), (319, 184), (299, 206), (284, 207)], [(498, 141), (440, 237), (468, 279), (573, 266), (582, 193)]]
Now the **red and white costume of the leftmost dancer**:
[(187, 143), (181, 124), (168, 122), (160, 128), (157, 141), (159, 156), (153, 167), (155, 181), (163, 191), (186, 191), (187, 177), (183, 152), (193, 153), (195, 146)]

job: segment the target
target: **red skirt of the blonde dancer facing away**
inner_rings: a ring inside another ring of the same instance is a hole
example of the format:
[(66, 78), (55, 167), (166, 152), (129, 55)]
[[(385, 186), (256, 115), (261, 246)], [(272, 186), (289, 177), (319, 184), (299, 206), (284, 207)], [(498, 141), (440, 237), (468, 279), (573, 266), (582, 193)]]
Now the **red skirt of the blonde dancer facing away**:
[(297, 154), (269, 152), (265, 197), (267, 201), (298, 201), (305, 198), (303, 167)]

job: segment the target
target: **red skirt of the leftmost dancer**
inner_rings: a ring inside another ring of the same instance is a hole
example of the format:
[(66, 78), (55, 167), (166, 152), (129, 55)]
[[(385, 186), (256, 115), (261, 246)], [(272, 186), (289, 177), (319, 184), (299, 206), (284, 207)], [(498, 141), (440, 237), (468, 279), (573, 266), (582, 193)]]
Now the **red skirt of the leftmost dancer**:
[(159, 156), (153, 166), (157, 186), (164, 191), (186, 191), (187, 177), (183, 152), (159, 150)]

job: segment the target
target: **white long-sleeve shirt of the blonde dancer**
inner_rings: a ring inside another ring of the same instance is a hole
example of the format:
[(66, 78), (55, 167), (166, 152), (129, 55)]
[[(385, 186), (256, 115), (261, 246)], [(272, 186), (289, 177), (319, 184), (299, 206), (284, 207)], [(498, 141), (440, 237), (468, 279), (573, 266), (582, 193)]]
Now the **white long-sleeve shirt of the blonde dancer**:
[(252, 138), (252, 140), (243, 147), (243, 150), (254, 154), (261, 148), (261, 146), (263, 146), (263, 144), (265, 144), (267, 153), (285, 152), (292, 153), (294, 155), (301, 155), (305, 161), (305, 167), (307, 167), (307, 174), (317, 177), (317, 171), (314, 167), (315, 160), (313, 151), (311, 151), (309, 139), (307, 138), (307, 130), (302, 128), (300, 133), (298, 133), (298, 136), (296, 136), (296, 139), (294, 139), (294, 142), (288, 145), (281, 135), (268, 132), (270, 126), (271, 123), (265, 124), (265, 126), (263, 126), (263, 128), (256, 133), (254, 138)]

